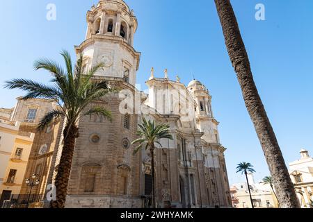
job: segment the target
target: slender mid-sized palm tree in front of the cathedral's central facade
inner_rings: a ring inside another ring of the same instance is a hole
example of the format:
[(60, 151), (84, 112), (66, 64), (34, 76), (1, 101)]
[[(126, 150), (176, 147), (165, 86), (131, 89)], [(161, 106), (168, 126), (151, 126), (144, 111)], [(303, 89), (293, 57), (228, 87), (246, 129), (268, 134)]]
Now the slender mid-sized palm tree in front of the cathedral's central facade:
[(136, 154), (143, 146), (145, 150), (150, 148), (151, 155), (151, 176), (152, 176), (152, 207), (155, 208), (155, 184), (154, 184), (154, 149), (155, 144), (159, 144), (159, 139), (173, 139), (170, 135), (170, 127), (166, 123), (155, 123), (154, 121), (147, 121), (143, 118), (143, 124), (138, 124), (140, 130), (138, 130), (137, 135), (138, 139), (135, 139), (131, 144), (139, 144), (134, 149), (134, 154)]

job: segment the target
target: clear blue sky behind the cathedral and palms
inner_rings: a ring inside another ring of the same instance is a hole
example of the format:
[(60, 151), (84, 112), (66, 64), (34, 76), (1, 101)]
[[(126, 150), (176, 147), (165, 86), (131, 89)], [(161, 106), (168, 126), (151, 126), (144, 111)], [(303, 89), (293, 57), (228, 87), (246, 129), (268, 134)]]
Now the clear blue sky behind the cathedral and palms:
[[(56, 4), (56, 21), (46, 19), (46, 6)], [(86, 12), (97, 0), (1, 1), (0, 83), (10, 78), (47, 82), (49, 74), (33, 71), (41, 56), (60, 60), (86, 35)], [(251, 162), (256, 180), (268, 175), (261, 146), (246, 111), (241, 90), (225, 49), (214, 0), (128, 0), (139, 27), (135, 49), (141, 51), (138, 83), (150, 68), (163, 76), (179, 74), (188, 84), (195, 78), (213, 96), (220, 138), (227, 147), (230, 182), (243, 177), (236, 164)], [(287, 163), (300, 148), (313, 155), (313, 19), (312, 0), (232, 0), (246, 44), (259, 94), (271, 119)], [(255, 19), (255, 5), (264, 3), (266, 21)], [(0, 107), (11, 108), (20, 91), (0, 88)]]

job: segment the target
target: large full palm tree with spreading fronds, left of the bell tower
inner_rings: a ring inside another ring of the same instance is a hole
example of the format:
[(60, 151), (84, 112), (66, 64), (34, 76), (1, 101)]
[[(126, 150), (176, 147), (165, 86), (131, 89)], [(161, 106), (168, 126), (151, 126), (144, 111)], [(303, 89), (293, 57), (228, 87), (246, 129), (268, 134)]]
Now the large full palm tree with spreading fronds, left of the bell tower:
[(49, 71), (52, 76), (51, 85), (36, 83), (33, 80), (14, 79), (6, 82), (5, 87), (9, 89), (23, 89), (27, 92), (24, 100), (41, 98), (53, 99), (59, 107), (48, 112), (38, 124), (38, 130), (44, 130), (56, 119), (64, 118), (63, 150), (58, 173), (56, 175), (56, 200), (51, 202), (53, 208), (65, 207), (67, 186), (72, 167), (72, 158), (76, 139), (79, 137), (77, 122), (81, 117), (91, 114), (102, 115), (111, 120), (111, 112), (103, 107), (88, 109), (88, 105), (99, 100), (109, 93), (109, 87), (105, 81), (93, 80), (93, 76), (103, 64), (97, 64), (88, 70), (82, 66), (83, 58), (80, 56), (76, 65), (72, 66), (70, 53), (61, 53), (65, 60), (66, 70), (56, 62), (48, 59), (40, 59), (35, 62), (35, 69)]

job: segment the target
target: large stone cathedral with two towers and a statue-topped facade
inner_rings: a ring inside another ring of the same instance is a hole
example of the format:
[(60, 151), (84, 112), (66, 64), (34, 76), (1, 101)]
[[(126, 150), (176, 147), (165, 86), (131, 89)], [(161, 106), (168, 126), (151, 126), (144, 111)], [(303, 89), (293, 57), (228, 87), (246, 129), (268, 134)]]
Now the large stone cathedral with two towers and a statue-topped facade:
[[(211, 107), (211, 95), (198, 80), (187, 86), (147, 76), (147, 92), (136, 89), (141, 53), (134, 49), (138, 21), (122, 0), (100, 0), (87, 12), (86, 40), (75, 46), (88, 69), (103, 62), (95, 78), (105, 79), (113, 89), (97, 104), (111, 110), (113, 120), (98, 116), (79, 121), (79, 138), (65, 207), (147, 207), (152, 194), (150, 155), (144, 149), (134, 155), (138, 124), (143, 117), (168, 123), (173, 139), (161, 139), (155, 151), (157, 207), (231, 207), (224, 148), (220, 144), (218, 121)], [(38, 201), (47, 202), (47, 186), (53, 184), (62, 148), (62, 121), (49, 135), (35, 135), (25, 178), (42, 162), (40, 185), (33, 189)], [(45, 152), (40, 153), (42, 144)], [(49, 157), (49, 158), (48, 158)], [(29, 187), (22, 185), (22, 192)]]

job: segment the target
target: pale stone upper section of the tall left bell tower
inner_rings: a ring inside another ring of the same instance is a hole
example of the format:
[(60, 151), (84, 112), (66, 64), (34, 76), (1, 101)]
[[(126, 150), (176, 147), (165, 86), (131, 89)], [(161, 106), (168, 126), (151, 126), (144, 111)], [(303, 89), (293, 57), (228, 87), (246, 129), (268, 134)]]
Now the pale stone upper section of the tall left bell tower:
[(134, 49), (138, 22), (134, 10), (122, 0), (99, 0), (87, 12), (86, 40), (75, 46), (83, 67), (104, 63), (97, 76), (136, 84), (141, 53)]

